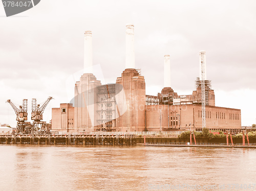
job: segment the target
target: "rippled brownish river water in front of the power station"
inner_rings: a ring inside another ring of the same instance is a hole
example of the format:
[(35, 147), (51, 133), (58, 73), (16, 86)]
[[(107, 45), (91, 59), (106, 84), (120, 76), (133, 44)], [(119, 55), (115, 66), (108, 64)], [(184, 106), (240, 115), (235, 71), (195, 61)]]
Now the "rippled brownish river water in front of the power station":
[(0, 172), (0, 190), (256, 190), (256, 149), (0, 145)]

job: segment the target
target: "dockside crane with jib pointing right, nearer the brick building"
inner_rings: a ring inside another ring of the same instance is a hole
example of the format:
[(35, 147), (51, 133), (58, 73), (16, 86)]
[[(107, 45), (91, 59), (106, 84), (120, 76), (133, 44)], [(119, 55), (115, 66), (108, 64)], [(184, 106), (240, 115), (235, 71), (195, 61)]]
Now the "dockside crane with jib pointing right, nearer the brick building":
[(40, 107), (40, 104), (36, 103), (36, 99), (32, 99), (32, 112), (31, 112), (31, 120), (33, 120), (33, 127), (35, 131), (37, 132), (40, 130), (41, 132), (47, 132), (47, 124), (46, 122), (42, 122), (42, 114), (45, 111), (46, 106), (49, 104), (49, 102), (52, 100), (52, 97), (49, 97), (47, 101), (42, 104)]

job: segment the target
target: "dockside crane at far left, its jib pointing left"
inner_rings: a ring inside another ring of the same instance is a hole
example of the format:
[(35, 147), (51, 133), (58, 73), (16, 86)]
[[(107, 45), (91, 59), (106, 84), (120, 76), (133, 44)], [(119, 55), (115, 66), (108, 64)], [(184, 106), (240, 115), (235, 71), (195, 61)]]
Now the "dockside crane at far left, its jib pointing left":
[(18, 108), (11, 102), (11, 100), (7, 100), (6, 103), (11, 105), (16, 114), (16, 132), (29, 133), (32, 130), (32, 126), (30, 122), (26, 122), (28, 120), (28, 100), (24, 99), (22, 106), (20, 105)]

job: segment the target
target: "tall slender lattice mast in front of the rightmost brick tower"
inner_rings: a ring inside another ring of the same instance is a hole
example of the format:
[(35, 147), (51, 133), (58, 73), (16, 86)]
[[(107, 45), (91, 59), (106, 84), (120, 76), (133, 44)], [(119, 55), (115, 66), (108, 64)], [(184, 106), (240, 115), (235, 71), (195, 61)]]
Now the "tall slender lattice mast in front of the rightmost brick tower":
[(206, 128), (206, 112), (205, 112), (205, 51), (200, 51), (201, 62), (201, 96), (202, 96), (202, 128)]

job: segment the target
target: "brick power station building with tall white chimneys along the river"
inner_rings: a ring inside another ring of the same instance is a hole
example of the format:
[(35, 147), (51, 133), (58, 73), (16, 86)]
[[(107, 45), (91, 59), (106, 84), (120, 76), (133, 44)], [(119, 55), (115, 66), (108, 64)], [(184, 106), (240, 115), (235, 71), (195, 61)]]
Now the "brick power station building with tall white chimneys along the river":
[[(146, 95), (145, 79), (135, 69), (134, 26), (126, 25), (125, 69), (115, 84), (102, 85), (90, 69), (75, 83), (74, 104), (52, 108), (52, 130), (79, 131), (173, 131), (202, 129), (202, 77), (196, 90), (178, 96), (170, 83), (170, 56), (164, 56), (164, 87), (157, 96)], [(91, 68), (92, 32), (84, 33), (84, 68)], [(211, 82), (204, 81), (206, 127), (241, 129), (241, 110), (216, 107)]]

